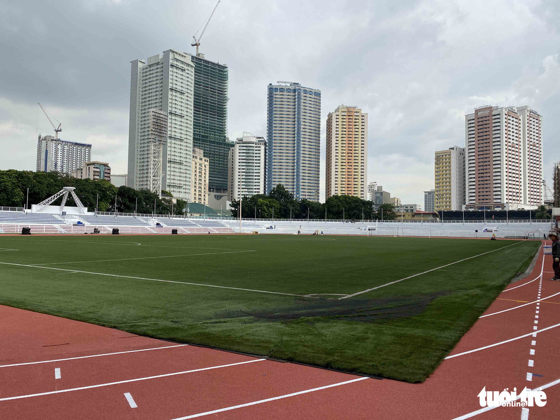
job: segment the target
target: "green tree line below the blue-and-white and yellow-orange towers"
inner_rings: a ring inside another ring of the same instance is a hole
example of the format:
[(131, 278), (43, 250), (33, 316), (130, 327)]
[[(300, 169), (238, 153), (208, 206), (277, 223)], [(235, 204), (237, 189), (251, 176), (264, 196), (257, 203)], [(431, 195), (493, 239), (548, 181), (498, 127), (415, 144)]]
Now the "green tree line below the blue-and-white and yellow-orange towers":
[[(241, 201), (243, 218), (278, 219), (327, 219), (331, 220), (384, 220), (396, 219), (395, 207), (382, 204), (378, 211), (374, 203), (352, 195), (333, 195), (325, 203), (307, 199), (296, 200), (282, 184), (278, 184), (270, 194), (256, 194), (243, 197)], [(239, 217), (239, 200), (231, 202), (231, 216)]]

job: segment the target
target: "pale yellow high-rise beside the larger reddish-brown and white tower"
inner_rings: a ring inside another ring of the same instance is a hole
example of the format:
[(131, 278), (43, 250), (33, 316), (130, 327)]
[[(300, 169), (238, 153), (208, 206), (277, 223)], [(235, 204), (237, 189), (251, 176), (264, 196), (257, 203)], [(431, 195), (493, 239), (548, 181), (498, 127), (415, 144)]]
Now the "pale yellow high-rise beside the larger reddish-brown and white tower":
[(436, 152), (434, 209), (461, 210), (465, 204), (465, 148)]

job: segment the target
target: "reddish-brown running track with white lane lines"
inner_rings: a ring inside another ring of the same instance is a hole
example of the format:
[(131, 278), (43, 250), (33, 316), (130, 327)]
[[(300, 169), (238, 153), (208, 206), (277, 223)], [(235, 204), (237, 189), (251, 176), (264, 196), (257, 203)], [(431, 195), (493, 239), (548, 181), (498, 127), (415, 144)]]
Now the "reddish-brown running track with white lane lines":
[[(423, 384), (179, 346), (0, 306), (0, 418), (558, 418), (560, 282), (548, 280), (551, 265), (541, 251), (530, 276), (501, 293)], [(483, 386), (546, 386), (548, 402), (477, 413)]]

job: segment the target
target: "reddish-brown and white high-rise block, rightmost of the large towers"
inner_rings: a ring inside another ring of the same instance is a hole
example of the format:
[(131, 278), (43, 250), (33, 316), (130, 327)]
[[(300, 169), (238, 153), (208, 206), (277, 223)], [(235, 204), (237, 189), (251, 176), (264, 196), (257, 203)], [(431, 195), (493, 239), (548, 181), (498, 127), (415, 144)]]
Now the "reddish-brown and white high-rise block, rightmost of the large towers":
[(530, 106), (480, 106), (465, 115), (466, 208), (543, 203), (543, 117)]

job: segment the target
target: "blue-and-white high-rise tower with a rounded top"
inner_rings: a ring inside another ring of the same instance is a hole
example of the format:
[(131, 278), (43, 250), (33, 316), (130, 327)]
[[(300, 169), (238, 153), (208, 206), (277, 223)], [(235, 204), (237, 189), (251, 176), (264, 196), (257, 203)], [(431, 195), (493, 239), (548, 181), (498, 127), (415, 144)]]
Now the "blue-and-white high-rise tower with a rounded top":
[(319, 201), (321, 91), (295, 82), (268, 85), (267, 193), (282, 184)]

